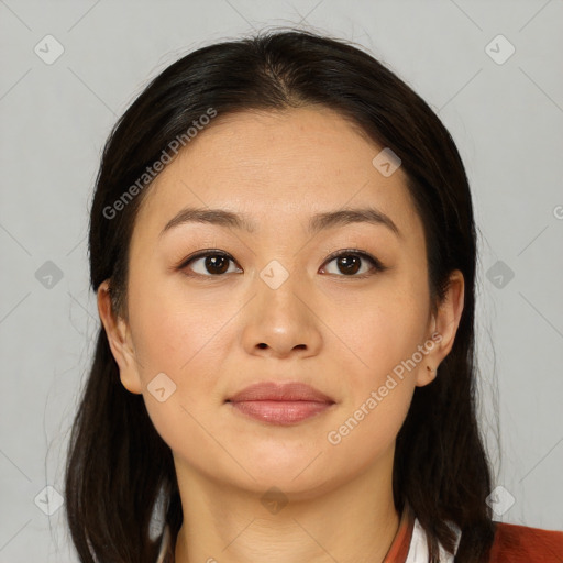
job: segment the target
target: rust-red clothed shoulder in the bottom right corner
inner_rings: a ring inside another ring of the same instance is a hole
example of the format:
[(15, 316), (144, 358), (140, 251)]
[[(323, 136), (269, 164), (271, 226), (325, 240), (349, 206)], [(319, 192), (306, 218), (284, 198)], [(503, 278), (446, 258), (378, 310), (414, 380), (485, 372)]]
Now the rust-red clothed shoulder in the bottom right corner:
[(543, 530), (495, 522), (490, 563), (560, 563), (563, 561), (563, 531)]

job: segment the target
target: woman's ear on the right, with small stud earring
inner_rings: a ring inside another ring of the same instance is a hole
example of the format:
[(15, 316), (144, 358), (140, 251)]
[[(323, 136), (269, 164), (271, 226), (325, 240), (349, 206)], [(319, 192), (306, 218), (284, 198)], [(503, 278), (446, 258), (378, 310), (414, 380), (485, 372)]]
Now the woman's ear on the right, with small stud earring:
[[(438, 366), (452, 350), (462, 318), (464, 295), (463, 274), (455, 269), (450, 274), (444, 299), (439, 303), (438, 312), (429, 323), (429, 333), (431, 334), (429, 342), (434, 345), (420, 363), (417, 373), (417, 387), (423, 387), (434, 380)], [(427, 347), (430, 350), (430, 345)], [(429, 371), (428, 367), (432, 371)]]

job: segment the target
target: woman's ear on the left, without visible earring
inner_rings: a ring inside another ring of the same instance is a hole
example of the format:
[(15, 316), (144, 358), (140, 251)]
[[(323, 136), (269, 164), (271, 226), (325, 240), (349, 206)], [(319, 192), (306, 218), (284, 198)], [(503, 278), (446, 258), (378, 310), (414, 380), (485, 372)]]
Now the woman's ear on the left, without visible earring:
[(131, 332), (124, 319), (113, 311), (109, 280), (98, 288), (98, 313), (106, 330), (111, 353), (119, 366), (123, 387), (131, 393), (141, 394), (143, 386), (139, 374)]

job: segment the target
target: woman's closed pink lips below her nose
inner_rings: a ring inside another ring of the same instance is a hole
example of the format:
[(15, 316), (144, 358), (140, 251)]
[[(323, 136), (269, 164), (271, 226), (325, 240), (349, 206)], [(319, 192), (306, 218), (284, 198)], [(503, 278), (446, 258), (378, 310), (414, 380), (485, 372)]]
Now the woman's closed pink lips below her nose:
[(328, 410), (335, 401), (299, 382), (264, 382), (245, 387), (225, 401), (243, 415), (273, 424), (295, 424)]

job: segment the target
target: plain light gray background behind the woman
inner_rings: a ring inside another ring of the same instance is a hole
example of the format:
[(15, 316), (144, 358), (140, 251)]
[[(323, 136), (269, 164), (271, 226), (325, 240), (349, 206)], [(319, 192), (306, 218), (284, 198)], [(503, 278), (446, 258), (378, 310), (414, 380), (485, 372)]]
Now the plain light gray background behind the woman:
[[(181, 54), (265, 25), (361, 43), (452, 133), (479, 228), (481, 416), (504, 487), (496, 519), (563, 529), (562, 21), (562, 0), (0, 0), (0, 562), (76, 561), (44, 489), (63, 490), (99, 325), (86, 235), (110, 128)], [(47, 34), (64, 47), (49, 65), (34, 52), (56, 53)], [(516, 48), (503, 64), (510, 47), (490, 43), (498, 34)]]

